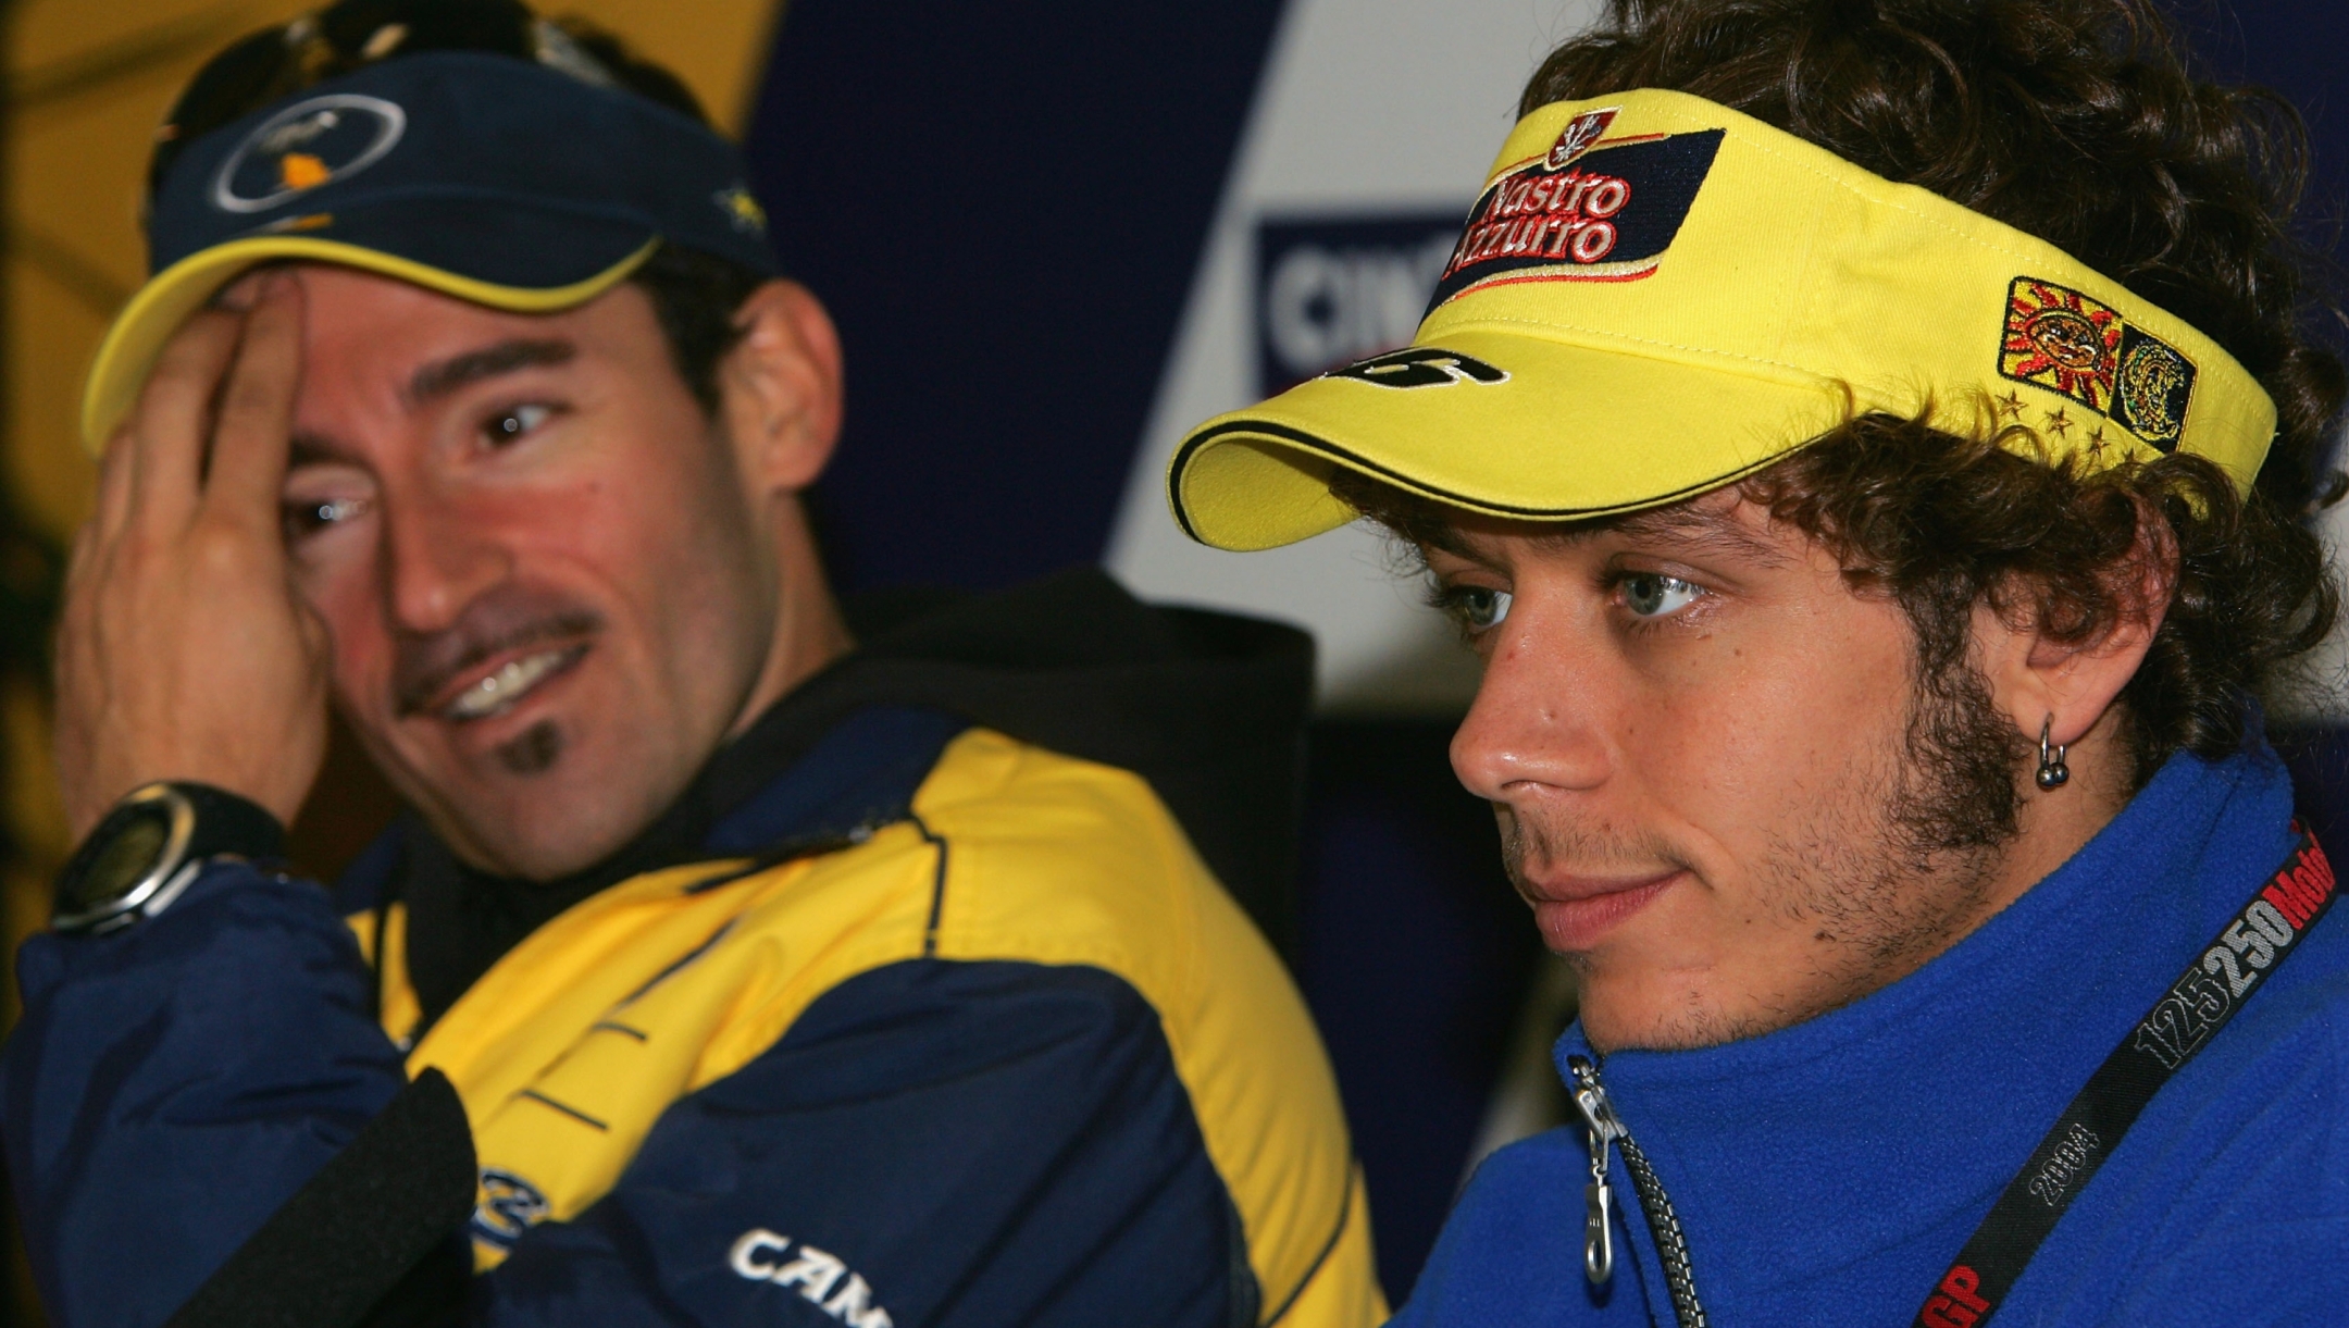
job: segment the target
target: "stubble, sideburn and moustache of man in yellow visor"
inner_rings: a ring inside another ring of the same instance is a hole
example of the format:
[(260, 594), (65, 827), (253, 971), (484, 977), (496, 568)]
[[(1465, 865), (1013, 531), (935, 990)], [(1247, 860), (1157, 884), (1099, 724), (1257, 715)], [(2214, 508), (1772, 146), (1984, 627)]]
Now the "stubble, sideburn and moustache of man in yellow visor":
[[(2018, 773), (2027, 745), (1966, 660), (1917, 679), (1905, 733), (1856, 757), (1835, 797), (1771, 837), (1755, 865), (1755, 893), (1783, 921), (1809, 926), (1809, 968), (1750, 1008), (1722, 1008), (1698, 992), (1640, 1020), (1640, 1046), (1698, 1048), (1762, 1037), (1842, 1008), (1919, 968), (1980, 924), (1983, 903), (2018, 834)], [(1571, 860), (1677, 863), (1656, 837), (1604, 827), (1536, 827), (1501, 816), (1501, 858), (1522, 891), (1527, 853), (1564, 849)], [(1588, 957), (1567, 957), (1576, 968)]]

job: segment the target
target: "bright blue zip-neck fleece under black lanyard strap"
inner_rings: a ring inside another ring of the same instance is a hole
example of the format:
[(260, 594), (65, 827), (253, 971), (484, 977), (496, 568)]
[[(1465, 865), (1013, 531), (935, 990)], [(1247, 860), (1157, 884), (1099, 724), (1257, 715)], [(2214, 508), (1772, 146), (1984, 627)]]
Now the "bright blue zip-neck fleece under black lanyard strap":
[[(1910, 1323), (2098, 1062), (2290, 851), (2264, 750), (2178, 757), (2102, 834), (1910, 978), (1607, 1093), (1687, 1232), (1712, 1326)], [(1593, 1055), (1581, 1027), (1557, 1044)], [(1997, 1328), (2349, 1321), (2349, 917), (2316, 921), (2145, 1109)], [(1621, 1152), (1616, 1276), (1583, 1276), (1579, 1126), (1478, 1168), (1400, 1326), (1663, 1323)]]

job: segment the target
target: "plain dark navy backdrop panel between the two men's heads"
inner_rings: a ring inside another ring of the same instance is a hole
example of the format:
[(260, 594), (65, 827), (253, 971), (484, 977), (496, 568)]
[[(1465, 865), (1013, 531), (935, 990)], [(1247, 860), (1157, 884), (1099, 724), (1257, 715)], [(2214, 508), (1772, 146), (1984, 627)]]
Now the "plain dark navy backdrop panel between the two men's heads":
[(789, 2), (749, 157), (848, 348), (841, 583), (1102, 557), (1278, 14)]

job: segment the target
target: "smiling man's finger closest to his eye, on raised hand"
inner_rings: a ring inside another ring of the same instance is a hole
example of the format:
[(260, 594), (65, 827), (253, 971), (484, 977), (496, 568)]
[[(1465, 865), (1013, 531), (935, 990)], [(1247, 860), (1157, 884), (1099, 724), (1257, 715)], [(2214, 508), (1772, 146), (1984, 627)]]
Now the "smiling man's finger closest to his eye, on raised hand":
[(221, 397), (204, 508), (223, 519), (277, 529), (287, 449), (294, 432), (294, 388), (301, 381), (301, 284), (272, 273), (244, 315), (237, 364)]

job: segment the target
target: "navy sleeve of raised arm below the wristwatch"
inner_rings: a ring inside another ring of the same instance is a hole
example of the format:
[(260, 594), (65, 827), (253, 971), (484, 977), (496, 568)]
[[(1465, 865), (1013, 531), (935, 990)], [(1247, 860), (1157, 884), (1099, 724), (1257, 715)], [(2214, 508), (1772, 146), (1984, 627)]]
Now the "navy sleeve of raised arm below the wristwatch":
[(0, 1135), (61, 1326), (169, 1319), (406, 1084), (310, 881), (216, 863), (127, 931), (31, 938), (16, 971)]

